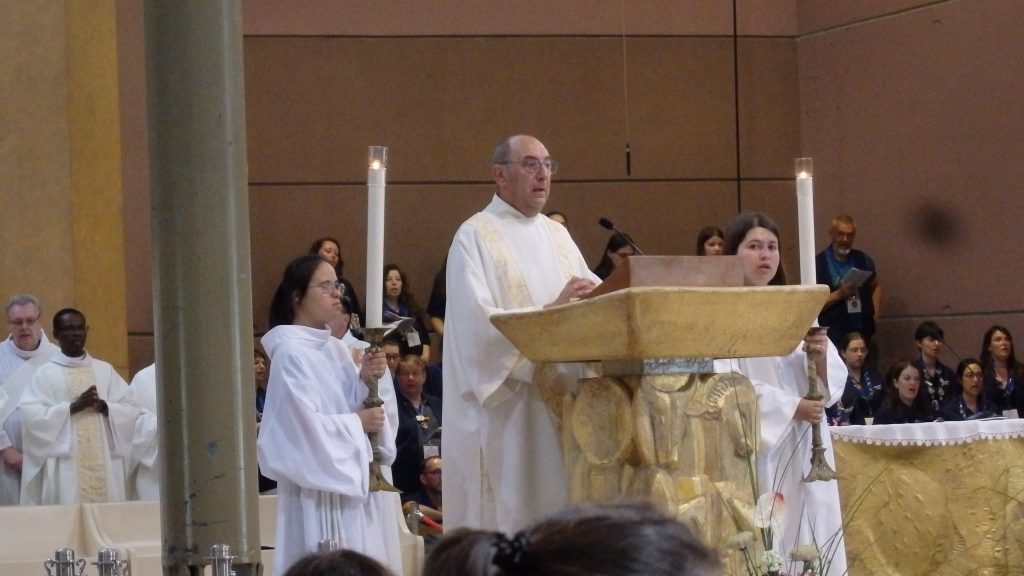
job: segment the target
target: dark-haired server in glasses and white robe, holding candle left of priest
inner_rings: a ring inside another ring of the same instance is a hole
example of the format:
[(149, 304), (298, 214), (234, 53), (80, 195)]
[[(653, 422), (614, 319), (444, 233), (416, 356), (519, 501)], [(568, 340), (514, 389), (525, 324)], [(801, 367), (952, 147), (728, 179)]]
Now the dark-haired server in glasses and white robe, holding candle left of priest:
[(359, 379), (379, 378), (386, 361), (366, 355), (356, 372), (347, 351), (339, 354), (327, 324), (341, 313), (341, 286), (316, 255), (291, 262), (270, 303), (272, 328), (261, 340), (270, 380), (256, 446), (263, 475), (278, 481), (275, 574), (324, 539), (401, 573), (400, 557), (389, 556), (385, 541), (397, 523), (379, 518), (370, 497), (367, 438), (379, 434), (383, 463), (390, 464), (394, 433), (383, 408), (359, 401), (366, 397)]

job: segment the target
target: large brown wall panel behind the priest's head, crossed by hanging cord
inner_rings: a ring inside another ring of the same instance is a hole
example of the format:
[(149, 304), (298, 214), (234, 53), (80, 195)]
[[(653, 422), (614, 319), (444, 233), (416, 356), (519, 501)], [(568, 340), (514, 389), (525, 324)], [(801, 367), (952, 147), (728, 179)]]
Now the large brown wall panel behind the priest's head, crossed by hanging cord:
[[(246, 47), (252, 181), (365, 181), (371, 143), (391, 147), (390, 181), (481, 180), (494, 146), (518, 131), (548, 145), (560, 178), (626, 175), (620, 40), (250, 38)], [(634, 176), (734, 175), (731, 52), (726, 39), (629, 41)]]

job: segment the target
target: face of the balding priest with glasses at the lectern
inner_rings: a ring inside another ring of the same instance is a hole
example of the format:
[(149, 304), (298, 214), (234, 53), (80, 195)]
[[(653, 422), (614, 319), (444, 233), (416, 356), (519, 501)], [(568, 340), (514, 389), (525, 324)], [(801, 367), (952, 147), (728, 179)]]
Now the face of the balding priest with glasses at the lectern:
[(541, 140), (516, 136), (512, 138), (508, 160), (492, 167), (498, 195), (524, 216), (540, 214), (548, 201), (551, 170), (546, 162), (551, 162), (551, 155)]

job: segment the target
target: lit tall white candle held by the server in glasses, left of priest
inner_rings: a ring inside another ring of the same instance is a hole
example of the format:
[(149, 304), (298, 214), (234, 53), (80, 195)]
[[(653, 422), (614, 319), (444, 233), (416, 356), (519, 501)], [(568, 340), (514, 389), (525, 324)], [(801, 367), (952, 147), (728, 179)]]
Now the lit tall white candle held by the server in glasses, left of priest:
[(384, 188), (387, 147), (370, 147), (367, 172), (367, 328), (383, 326), (384, 310)]

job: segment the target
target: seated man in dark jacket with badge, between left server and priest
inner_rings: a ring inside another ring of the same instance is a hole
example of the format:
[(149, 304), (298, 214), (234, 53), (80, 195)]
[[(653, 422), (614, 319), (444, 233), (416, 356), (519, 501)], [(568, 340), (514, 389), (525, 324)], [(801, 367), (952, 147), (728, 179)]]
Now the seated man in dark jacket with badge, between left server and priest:
[(398, 363), (395, 379), (398, 395), (397, 454), (391, 470), (394, 485), (404, 494), (416, 494), (420, 484), (420, 464), (428, 456), (440, 455), (440, 399), (423, 392), (426, 363), (416, 355), (406, 355)]

